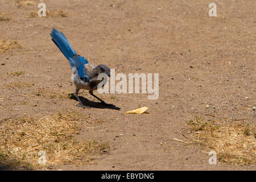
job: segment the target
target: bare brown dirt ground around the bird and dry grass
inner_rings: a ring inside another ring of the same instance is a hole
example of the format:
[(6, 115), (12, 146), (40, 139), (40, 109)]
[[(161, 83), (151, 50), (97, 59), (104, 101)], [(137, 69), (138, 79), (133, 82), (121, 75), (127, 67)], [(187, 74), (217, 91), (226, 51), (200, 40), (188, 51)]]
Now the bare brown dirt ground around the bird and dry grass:
[[(39, 2), (62, 14), (33, 16)], [(208, 15), (212, 2), (217, 17)], [(0, 12), (10, 19), (0, 21), (0, 39), (16, 41), (19, 48), (0, 52), (0, 127), (11, 116), (59, 112), (98, 121), (84, 121), (77, 138), (108, 143), (109, 151), (92, 163), (50, 169), (255, 170), (255, 164), (210, 165), (210, 149), (184, 143), (191, 135), (187, 122), (195, 116), (255, 126), (255, 9), (251, 0), (1, 0)], [(158, 100), (94, 92), (116, 106), (108, 107), (84, 91), (80, 98), (91, 108), (82, 109), (76, 100), (38, 94), (75, 90), (69, 63), (49, 35), (53, 27), (79, 55), (116, 74), (159, 73)], [(17, 82), (32, 86), (10, 86)], [(149, 114), (125, 114), (143, 106)]]

